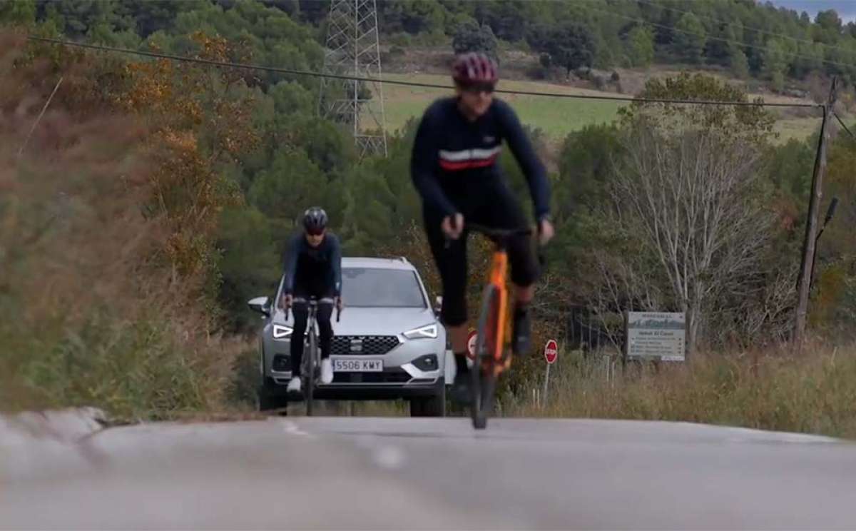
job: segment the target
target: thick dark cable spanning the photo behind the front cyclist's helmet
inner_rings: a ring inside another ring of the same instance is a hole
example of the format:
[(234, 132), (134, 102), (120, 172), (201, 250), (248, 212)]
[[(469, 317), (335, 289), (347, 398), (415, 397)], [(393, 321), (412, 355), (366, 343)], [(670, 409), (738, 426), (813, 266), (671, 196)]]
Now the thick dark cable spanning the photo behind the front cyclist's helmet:
[[(398, 80), (383, 80), (376, 79), (371, 77), (360, 77), (355, 75), (336, 75), (336, 74), (323, 74), (321, 72), (313, 72), (311, 70), (296, 70), (296, 69), (282, 69), (277, 67), (266, 67), (257, 64), (247, 64), (247, 63), (229, 63), (225, 61), (211, 61), (210, 59), (201, 59), (199, 57), (186, 57), (186, 56), (175, 56), (165, 53), (158, 53), (154, 51), (140, 51), (140, 50), (129, 50), (127, 48), (116, 48), (114, 46), (106, 46), (106, 45), (88, 45), (86, 43), (78, 43), (74, 41), (66, 41), (60, 39), (48, 39), (46, 37), (34, 37), (29, 36), (27, 39), (51, 43), (55, 45), (62, 46), (71, 46), (71, 47), (79, 47), (79, 48), (89, 48), (92, 50), (98, 51), (112, 51), (118, 53), (127, 53), (135, 56), (142, 57), (153, 57), (158, 59), (169, 59), (171, 61), (180, 61), (183, 63), (199, 63), (206, 64), (209, 66), (215, 67), (225, 67), (232, 69), (244, 69), (244, 70), (262, 70), (265, 72), (275, 72), (278, 74), (290, 74), (290, 75), (306, 75), (309, 77), (318, 77), (318, 78), (330, 78), (330, 79), (338, 79), (338, 80), (348, 80), (348, 81), (364, 81), (366, 83), (387, 83), (389, 85), (401, 85), (404, 87), (421, 87), (421, 88), (442, 88), (445, 90), (451, 90), (454, 87), (450, 85), (439, 85), (435, 83), (421, 83), (417, 81), (398, 81)], [(811, 107), (816, 108), (820, 107), (820, 104), (786, 104), (786, 103), (766, 103), (766, 102), (749, 102), (749, 101), (717, 101), (717, 100), (706, 100), (706, 99), (676, 99), (676, 98), (627, 98), (621, 96), (600, 96), (594, 94), (564, 94), (562, 92), (532, 92), (532, 91), (520, 91), (520, 90), (503, 90), (497, 89), (496, 92), (502, 94), (514, 94), (518, 96), (536, 96), (542, 98), (568, 98), (568, 99), (593, 99), (593, 100), (604, 100), (604, 101), (622, 101), (627, 103), (640, 103), (640, 104), (701, 104), (701, 105), (734, 105), (734, 106), (746, 106), (746, 107)]]

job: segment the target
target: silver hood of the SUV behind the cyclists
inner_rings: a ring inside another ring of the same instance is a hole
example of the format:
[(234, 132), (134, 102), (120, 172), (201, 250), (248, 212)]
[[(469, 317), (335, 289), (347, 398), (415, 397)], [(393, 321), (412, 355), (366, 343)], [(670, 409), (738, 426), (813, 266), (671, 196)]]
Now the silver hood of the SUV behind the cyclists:
[[(274, 322), (291, 325), (284, 314), (276, 312)], [(336, 310), (333, 310), (333, 331), (336, 336), (397, 336), (406, 331), (425, 325), (440, 326), (439, 320), (430, 308), (389, 308), (389, 307), (345, 307), (342, 317), (336, 322)], [(443, 331), (440, 331), (443, 334)]]

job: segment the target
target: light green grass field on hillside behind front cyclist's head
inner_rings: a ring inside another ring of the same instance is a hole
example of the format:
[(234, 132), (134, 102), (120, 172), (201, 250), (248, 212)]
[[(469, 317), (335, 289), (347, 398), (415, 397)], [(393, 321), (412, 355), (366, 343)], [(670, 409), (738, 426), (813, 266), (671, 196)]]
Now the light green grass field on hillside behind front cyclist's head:
[[(384, 74), (383, 78), (449, 85), (449, 77), (445, 75)], [(615, 95), (614, 92), (600, 92), (536, 81), (501, 81), (499, 88), (559, 94)], [(436, 98), (450, 93), (451, 89), (384, 85), (383, 98), (387, 128), (389, 131), (400, 129), (411, 117), (421, 116), (425, 107)], [(623, 105), (619, 102), (591, 99), (544, 98), (513, 94), (499, 94), (499, 97), (514, 104), (521, 122), (530, 127), (542, 129), (554, 141), (562, 140), (571, 131), (579, 130), (586, 125), (612, 122)], [(776, 122), (776, 132), (780, 134), (779, 141), (784, 142), (792, 138), (805, 138), (819, 126), (819, 118), (787, 118)]]

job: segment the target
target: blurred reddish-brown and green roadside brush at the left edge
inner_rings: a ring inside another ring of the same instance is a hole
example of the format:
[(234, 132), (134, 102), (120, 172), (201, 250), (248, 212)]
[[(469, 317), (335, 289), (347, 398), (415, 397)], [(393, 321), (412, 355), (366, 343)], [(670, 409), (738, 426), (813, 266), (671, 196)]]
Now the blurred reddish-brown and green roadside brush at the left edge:
[[(0, 33), (0, 70), (15, 73), (0, 80), (0, 409), (226, 408), (242, 343), (205, 306), (208, 271), (181, 256), (173, 220), (190, 205), (157, 205), (158, 174), (205, 164), (154, 116), (99, 97), (88, 76), (104, 65), (67, 55), (56, 69), (24, 52)], [(63, 90), (28, 138), (57, 74)]]

